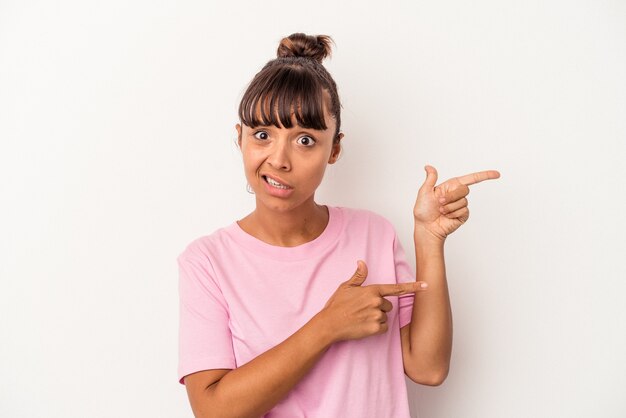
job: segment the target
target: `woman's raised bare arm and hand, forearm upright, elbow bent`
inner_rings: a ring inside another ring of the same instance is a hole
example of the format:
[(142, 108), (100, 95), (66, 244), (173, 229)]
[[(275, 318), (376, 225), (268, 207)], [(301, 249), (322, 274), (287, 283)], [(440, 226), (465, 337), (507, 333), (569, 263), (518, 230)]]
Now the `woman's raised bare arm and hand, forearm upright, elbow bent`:
[(469, 218), (469, 186), (497, 179), (495, 170), (452, 178), (439, 186), (437, 170), (426, 166), (413, 215), (417, 281), (428, 291), (417, 292), (411, 323), (400, 330), (406, 375), (416, 383), (437, 386), (448, 375), (452, 353), (452, 310), (448, 294), (444, 243)]

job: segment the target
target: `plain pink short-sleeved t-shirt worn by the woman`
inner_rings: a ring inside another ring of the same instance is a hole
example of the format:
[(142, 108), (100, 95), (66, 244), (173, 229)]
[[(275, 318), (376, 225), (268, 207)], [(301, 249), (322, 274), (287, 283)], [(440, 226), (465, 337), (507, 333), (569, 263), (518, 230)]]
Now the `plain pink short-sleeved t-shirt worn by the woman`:
[[(237, 223), (191, 242), (178, 257), (178, 377), (234, 369), (278, 345), (325, 305), (356, 261), (363, 285), (415, 281), (392, 225), (369, 211), (329, 207), (315, 240), (269, 245)], [(266, 417), (409, 417), (400, 328), (414, 296), (388, 296), (385, 334), (331, 346)]]

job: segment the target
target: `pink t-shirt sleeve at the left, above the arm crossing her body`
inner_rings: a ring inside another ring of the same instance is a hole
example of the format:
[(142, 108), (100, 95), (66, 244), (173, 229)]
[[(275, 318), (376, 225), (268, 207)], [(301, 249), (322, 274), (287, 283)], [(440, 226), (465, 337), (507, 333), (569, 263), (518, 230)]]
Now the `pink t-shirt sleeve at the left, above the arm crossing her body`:
[(178, 379), (202, 370), (234, 369), (228, 305), (208, 257), (181, 254), (179, 267)]

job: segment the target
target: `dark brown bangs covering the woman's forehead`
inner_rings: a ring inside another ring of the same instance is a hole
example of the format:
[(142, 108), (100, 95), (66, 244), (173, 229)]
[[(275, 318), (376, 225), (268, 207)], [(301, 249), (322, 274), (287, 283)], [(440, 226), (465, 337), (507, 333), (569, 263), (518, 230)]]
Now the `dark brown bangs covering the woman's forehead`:
[(265, 68), (252, 80), (239, 105), (239, 119), (245, 125), (298, 126), (327, 129), (324, 118), (324, 87), (302, 68)]

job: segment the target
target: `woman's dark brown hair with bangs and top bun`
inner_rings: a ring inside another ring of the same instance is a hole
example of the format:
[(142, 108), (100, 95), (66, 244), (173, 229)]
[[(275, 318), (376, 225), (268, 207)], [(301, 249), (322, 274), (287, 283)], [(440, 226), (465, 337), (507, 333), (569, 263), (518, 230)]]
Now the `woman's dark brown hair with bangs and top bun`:
[[(330, 55), (332, 39), (329, 36), (309, 36), (294, 33), (280, 41), (277, 58), (259, 71), (239, 104), (239, 119), (247, 126), (261, 125), (292, 127), (292, 115), (299, 126), (309, 129), (327, 129), (324, 120), (326, 105), (337, 127), (335, 141), (339, 140), (341, 124), (337, 85), (322, 65)], [(324, 98), (324, 91), (329, 100)]]

